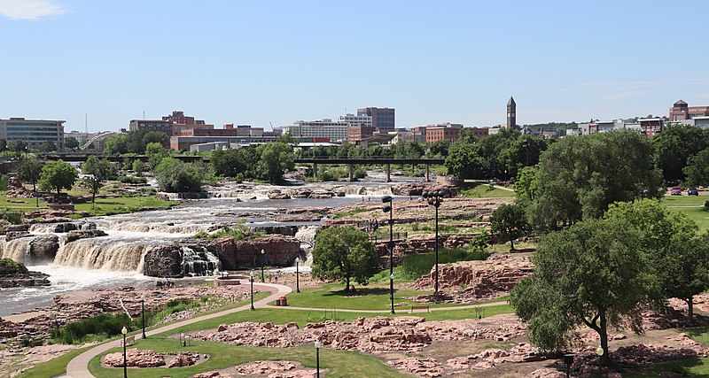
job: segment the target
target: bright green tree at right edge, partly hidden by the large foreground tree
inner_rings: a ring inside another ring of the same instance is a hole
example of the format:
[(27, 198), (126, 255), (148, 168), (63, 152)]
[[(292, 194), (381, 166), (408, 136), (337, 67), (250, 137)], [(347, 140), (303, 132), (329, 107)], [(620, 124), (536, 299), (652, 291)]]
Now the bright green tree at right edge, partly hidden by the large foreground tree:
[(625, 220), (642, 233), (665, 297), (682, 299), (694, 319), (697, 294), (709, 289), (709, 235), (697, 235), (697, 224), (671, 212), (656, 200), (613, 204), (606, 218)]

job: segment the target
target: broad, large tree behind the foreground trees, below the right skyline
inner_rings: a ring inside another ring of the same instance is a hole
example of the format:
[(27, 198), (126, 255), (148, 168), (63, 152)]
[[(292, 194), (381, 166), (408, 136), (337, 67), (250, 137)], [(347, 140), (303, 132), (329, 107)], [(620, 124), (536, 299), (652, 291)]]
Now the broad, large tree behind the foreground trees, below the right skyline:
[(541, 155), (534, 202), (535, 225), (556, 229), (600, 218), (614, 202), (661, 197), (662, 176), (652, 164), (651, 142), (613, 131), (563, 138)]

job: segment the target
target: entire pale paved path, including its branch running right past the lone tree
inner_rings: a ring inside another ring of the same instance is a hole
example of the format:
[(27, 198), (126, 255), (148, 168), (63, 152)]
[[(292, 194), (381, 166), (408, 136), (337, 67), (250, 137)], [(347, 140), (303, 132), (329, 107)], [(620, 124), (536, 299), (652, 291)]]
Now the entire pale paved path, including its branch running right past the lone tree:
[[(389, 313), (390, 310), (353, 310), (353, 309), (325, 309), (325, 308), (310, 308), (310, 307), (292, 307), (292, 306), (285, 306), (285, 307), (279, 307), (279, 306), (273, 306), (269, 305), (270, 302), (275, 301), (277, 298), (281, 296), (288, 295), (292, 292), (292, 289), (288, 286), (285, 285), (278, 285), (275, 283), (254, 283), (254, 287), (257, 289), (267, 289), (272, 292), (272, 294), (269, 297), (265, 297), (257, 302), (253, 303), (254, 307), (257, 308), (277, 308), (277, 309), (284, 309), (284, 310), (308, 310), (308, 311), (325, 311), (325, 310), (335, 310), (338, 312), (366, 312), (366, 313)], [(445, 310), (464, 310), (464, 309), (471, 309), (471, 308), (476, 308), (476, 307), (490, 307), (494, 305), (506, 305), (508, 302), (507, 301), (499, 301), (499, 302), (491, 302), (491, 303), (486, 303), (486, 304), (479, 304), (479, 305), (460, 305), (460, 306), (451, 306), (451, 307), (432, 307), (431, 311), (445, 311)], [(188, 324), (196, 323), (198, 321), (202, 320), (207, 320), (207, 319), (213, 319), (222, 315), (227, 315), (230, 313), (234, 312), (240, 312), (240, 311), (245, 311), (249, 310), (251, 308), (251, 304), (243, 305), (241, 307), (236, 307), (232, 308), (230, 310), (224, 310), (221, 312), (214, 312), (210, 313), (208, 315), (203, 315), (199, 316), (196, 318), (191, 318), (188, 320), (182, 320), (178, 321), (173, 324), (168, 324), (167, 326), (160, 327), (160, 328), (155, 328), (151, 329), (149, 331), (145, 332), (146, 336), (154, 336), (169, 330), (173, 330), (176, 328), (181, 328), (184, 327)], [(396, 308), (394, 308), (397, 310)], [(399, 308), (398, 309), (399, 313), (406, 313), (406, 309), (404, 308)], [(140, 332), (134, 334), (131, 334), (136, 337), (140, 337)], [(84, 351), (82, 354), (74, 357), (71, 361), (69, 361), (69, 364), (66, 366), (66, 377), (70, 378), (94, 378), (94, 375), (90, 373), (89, 371), (89, 361), (93, 359), (94, 357), (98, 356), (99, 354), (108, 351), (112, 348), (119, 348), (121, 347), (121, 339), (119, 340), (114, 340), (112, 342), (108, 343), (101, 343), (98, 344), (97, 346), (91, 348), (88, 351)]]

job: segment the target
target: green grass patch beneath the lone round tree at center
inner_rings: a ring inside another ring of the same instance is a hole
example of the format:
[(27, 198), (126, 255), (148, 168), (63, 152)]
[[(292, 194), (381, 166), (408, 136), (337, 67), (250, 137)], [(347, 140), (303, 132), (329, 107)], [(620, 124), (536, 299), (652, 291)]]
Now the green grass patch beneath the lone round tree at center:
[[(347, 296), (344, 284), (326, 283), (319, 288), (300, 289), (300, 293), (292, 292), (288, 297), (288, 305), (309, 308), (343, 308), (347, 310), (387, 310), (391, 308), (389, 298), (388, 273), (386, 286), (382, 284), (361, 286), (356, 285), (356, 295)], [(394, 278), (396, 275), (394, 274)], [(432, 294), (431, 290), (396, 289), (393, 290), (394, 304), (407, 303), (420, 305), (404, 297), (417, 297), (422, 294)], [(463, 304), (432, 304), (431, 307), (452, 307)]]

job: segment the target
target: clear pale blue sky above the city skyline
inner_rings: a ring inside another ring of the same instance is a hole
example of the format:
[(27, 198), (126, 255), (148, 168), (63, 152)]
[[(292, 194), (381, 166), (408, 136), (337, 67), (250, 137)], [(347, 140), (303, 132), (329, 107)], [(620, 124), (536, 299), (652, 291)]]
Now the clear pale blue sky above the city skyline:
[(396, 108), (398, 127), (709, 105), (709, 2), (0, 0), (0, 118), (221, 127)]

